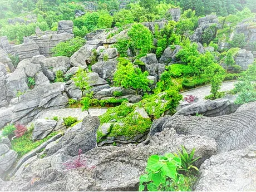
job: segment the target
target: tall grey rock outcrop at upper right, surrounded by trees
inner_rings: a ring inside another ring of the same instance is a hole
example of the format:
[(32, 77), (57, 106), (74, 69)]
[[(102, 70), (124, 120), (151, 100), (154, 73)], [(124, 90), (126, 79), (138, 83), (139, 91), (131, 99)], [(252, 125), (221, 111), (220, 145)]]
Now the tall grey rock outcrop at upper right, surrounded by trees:
[[(215, 27), (211, 27), (214, 26)], [(194, 34), (190, 37), (191, 41), (202, 43), (202, 37), (204, 31), (211, 27), (211, 30), (208, 31), (212, 36), (215, 35), (217, 28), (219, 28), (218, 17), (214, 14), (209, 14), (206, 17), (201, 17), (198, 19), (198, 28), (196, 28)]]

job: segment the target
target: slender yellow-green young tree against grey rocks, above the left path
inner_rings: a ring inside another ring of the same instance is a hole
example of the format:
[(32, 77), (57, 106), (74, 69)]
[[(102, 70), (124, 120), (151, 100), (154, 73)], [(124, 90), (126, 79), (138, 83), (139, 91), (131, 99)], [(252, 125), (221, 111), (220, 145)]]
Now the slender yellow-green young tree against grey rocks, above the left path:
[(81, 67), (76, 72), (76, 75), (73, 76), (71, 79), (75, 82), (75, 85), (82, 91), (82, 97), (84, 96), (85, 91), (91, 89), (90, 83), (88, 82), (89, 78), (87, 72)]

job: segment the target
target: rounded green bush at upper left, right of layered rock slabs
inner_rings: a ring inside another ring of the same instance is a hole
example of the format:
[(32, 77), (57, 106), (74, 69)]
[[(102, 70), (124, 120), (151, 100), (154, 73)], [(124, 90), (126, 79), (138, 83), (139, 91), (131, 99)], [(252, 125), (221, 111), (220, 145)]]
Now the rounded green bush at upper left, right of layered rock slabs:
[(66, 56), (71, 57), (73, 53), (78, 51), (85, 44), (85, 40), (81, 37), (73, 38), (66, 42), (58, 43), (56, 47), (52, 49), (54, 57)]

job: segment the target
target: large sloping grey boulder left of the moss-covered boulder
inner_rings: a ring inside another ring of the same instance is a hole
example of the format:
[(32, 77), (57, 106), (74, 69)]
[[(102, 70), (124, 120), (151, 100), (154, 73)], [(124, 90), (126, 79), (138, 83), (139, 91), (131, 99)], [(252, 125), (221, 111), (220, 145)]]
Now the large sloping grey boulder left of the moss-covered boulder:
[(87, 116), (82, 123), (67, 130), (66, 134), (52, 147), (47, 156), (65, 152), (70, 156), (76, 156), (79, 149), (87, 152), (96, 147), (96, 131), (100, 125), (100, 120), (96, 116)]

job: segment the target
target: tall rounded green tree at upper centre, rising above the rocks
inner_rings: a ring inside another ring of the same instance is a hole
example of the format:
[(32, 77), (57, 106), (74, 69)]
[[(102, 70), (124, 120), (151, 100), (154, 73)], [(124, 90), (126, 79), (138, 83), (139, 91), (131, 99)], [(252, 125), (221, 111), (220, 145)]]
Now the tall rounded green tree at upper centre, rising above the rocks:
[(137, 57), (145, 56), (153, 47), (151, 31), (142, 24), (134, 24), (128, 31), (130, 47)]

